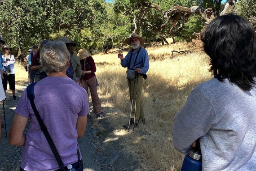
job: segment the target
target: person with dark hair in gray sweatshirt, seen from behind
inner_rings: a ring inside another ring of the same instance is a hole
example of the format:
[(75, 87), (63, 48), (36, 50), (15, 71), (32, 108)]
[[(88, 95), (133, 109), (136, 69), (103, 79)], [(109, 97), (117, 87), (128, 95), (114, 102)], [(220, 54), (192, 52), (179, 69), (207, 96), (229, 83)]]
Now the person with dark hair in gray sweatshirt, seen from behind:
[(196, 87), (175, 115), (173, 146), (199, 139), (203, 171), (256, 169), (256, 34), (243, 17), (216, 17), (203, 31), (214, 78)]

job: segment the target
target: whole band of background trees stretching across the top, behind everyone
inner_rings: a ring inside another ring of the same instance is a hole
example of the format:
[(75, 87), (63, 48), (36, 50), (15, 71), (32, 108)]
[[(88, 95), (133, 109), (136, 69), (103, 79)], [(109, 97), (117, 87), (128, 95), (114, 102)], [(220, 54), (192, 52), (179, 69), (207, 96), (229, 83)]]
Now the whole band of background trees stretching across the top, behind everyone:
[(227, 3), (256, 26), (256, 0), (0, 0), (0, 34), (20, 60), (33, 44), (63, 36), (76, 51), (94, 54), (123, 47), (132, 32), (146, 39), (145, 47), (169, 44), (169, 37), (190, 42)]

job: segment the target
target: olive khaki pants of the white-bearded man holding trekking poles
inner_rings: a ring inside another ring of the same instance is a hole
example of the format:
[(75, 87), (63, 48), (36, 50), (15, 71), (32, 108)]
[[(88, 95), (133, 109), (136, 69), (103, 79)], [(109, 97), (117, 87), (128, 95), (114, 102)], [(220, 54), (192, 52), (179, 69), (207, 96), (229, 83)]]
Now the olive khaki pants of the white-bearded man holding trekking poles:
[[(137, 86), (138, 77), (138, 86)], [(134, 118), (135, 103), (136, 103), (136, 114), (135, 123), (138, 124), (139, 119), (144, 119), (144, 113), (141, 105), (141, 90), (143, 86), (143, 76), (137, 74), (133, 80), (128, 80), (130, 101), (132, 103), (132, 118)], [(137, 87), (137, 98), (136, 98), (136, 87)], [(133, 102), (132, 102), (132, 90), (133, 90)]]

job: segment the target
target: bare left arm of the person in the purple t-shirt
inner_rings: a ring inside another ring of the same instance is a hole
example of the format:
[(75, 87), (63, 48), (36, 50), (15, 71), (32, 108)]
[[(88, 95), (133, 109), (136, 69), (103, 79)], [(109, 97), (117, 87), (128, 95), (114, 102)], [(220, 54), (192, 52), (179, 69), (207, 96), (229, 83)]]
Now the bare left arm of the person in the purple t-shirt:
[(9, 132), (9, 144), (23, 146), (26, 141), (26, 134), (23, 133), (28, 118), (15, 113)]

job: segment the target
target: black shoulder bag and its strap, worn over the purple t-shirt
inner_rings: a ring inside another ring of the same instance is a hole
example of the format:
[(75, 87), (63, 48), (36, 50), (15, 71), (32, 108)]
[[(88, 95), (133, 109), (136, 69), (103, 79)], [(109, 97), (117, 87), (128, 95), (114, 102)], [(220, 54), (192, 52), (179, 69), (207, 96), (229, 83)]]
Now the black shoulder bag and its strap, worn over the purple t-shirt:
[[(44, 136), (46, 138), (46, 140), (48, 141), (52, 151), (53, 151), (53, 154), (54, 154), (54, 157), (56, 158), (57, 162), (58, 162), (58, 165), (60, 167), (60, 169), (58, 169), (57, 171), (68, 171), (67, 167), (64, 166), (63, 162), (62, 162), (62, 159), (57, 151), (57, 148), (56, 146), (54, 145), (54, 142), (53, 142), (53, 139), (52, 137), (50, 136), (45, 124), (44, 124), (44, 121), (42, 120), (39, 112), (37, 111), (36, 107), (35, 107), (35, 103), (34, 103), (34, 99), (35, 99), (35, 94), (34, 94), (34, 86), (35, 86), (35, 83), (32, 83), (31, 85), (28, 85), (27, 88), (26, 88), (26, 94), (27, 94), (27, 97), (31, 103), (31, 107), (35, 113), (35, 116), (36, 116), (36, 119), (38, 120), (39, 124), (40, 124), (40, 128), (41, 130), (43, 131), (44, 133)], [(79, 154), (79, 147), (77, 146), (77, 154), (78, 154), (78, 162), (75, 162), (72, 164), (73, 168), (76, 169), (76, 171), (82, 171), (82, 167), (83, 167), (83, 163), (81, 162), (80, 160), (80, 154)]]

